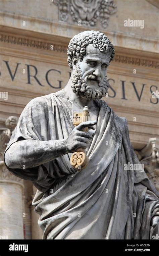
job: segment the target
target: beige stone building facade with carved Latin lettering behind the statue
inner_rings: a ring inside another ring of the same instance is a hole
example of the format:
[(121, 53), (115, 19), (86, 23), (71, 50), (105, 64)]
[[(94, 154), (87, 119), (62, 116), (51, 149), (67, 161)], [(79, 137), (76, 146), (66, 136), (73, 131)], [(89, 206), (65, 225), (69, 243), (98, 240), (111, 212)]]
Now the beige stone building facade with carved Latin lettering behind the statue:
[(1, 1), (0, 239), (42, 238), (36, 188), (8, 172), (3, 153), (25, 105), (66, 85), (67, 45), (85, 30), (115, 46), (104, 100), (128, 120), (131, 144), (159, 191), (158, 10), (157, 0)]

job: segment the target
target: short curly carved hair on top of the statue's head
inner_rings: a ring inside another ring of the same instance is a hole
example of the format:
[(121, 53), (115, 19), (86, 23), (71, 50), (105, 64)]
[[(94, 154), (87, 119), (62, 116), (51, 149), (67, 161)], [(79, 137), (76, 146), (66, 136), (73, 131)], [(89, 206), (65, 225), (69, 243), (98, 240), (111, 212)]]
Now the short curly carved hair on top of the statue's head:
[(78, 35), (75, 35), (69, 42), (67, 48), (67, 62), (70, 69), (72, 69), (73, 56), (77, 56), (80, 61), (83, 60), (83, 56), (86, 54), (86, 47), (88, 44), (92, 44), (95, 48), (99, 48), (99, 50), (103, 53), (111, 51), (110, 61), (113, 59), (115, 50), (106, 35), (94, 30), (84, 31)]

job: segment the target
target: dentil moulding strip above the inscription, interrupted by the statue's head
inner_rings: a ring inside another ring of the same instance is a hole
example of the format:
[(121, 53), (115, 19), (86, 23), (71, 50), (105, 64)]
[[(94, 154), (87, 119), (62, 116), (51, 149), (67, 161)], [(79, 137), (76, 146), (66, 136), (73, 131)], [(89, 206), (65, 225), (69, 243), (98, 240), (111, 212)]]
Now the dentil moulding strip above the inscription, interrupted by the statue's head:
[[(29, 38), (29, 37), (22, 37), (18, 35), (8, 35), (5, 33), (0, 33), (0, 42), (4, 43), (10, 43), (10, 44), (16, 44), (20, 46), (25, 46), (25, 47), (32, 47), (36, 49), (43, 49), (43, 50), (50, 50), (50, 46), (53, 45), (54, 52), (60, 52), (60, 53), (65, 53), (67, 52), (67, 45), (62, 44), (60, 41), (46, 41), (44, 39), (38, 39), (38, 38)], [(153, 53), (144, 52), (143, 55), (144, 57), (141, 56), (141, 51), (135, 51), (132, 50), (133, 55), (131, 55), (131, 49), (129, 49), (129, 54), (125, 54), (126, 51), (124, 48), (116, 47), (116, 53), (114, 56), (115, 62), (119, 63), (125, 63), (125, 64), (131, 64), (131, 65), (136, 65), (136, 66), (144, 66), (144, 67), (150, 67), (150, 68), (159, 68), (159, 61), (157, 56), (154, 58)], [(122, 49), (122, 50), (121, 50)], [(121, 53), (119, 52), (121, 51)], [(134, 54), (140, 53), (140, 55), (134, 56)], [(155, 53), (155, 55), (157, 55)]]

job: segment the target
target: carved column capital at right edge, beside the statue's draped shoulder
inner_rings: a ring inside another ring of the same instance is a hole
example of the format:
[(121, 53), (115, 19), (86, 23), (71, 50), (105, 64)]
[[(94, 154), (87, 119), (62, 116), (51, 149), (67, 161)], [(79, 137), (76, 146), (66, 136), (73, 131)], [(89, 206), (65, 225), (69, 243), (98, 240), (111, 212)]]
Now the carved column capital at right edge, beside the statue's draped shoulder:
[(151, 138), (146, 147), (136, 154), (156, 190), (159, 191), (159, 139)]

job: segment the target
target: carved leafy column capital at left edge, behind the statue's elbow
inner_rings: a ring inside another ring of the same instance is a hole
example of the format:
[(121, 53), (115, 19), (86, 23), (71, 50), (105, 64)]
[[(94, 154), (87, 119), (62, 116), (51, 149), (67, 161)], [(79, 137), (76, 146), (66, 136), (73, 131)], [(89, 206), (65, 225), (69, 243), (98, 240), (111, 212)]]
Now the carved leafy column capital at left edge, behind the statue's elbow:
[(2, 131), (0, 135), (0, 180), (9, 180), (22, 183), (21, 178), (16, 177), (7, 170), (3, 161), (4, 151), (15, 129), (17, 121), (18, 118), (16, 116), (9, 116), (5, 121), (6, 127), (0, 129)]

